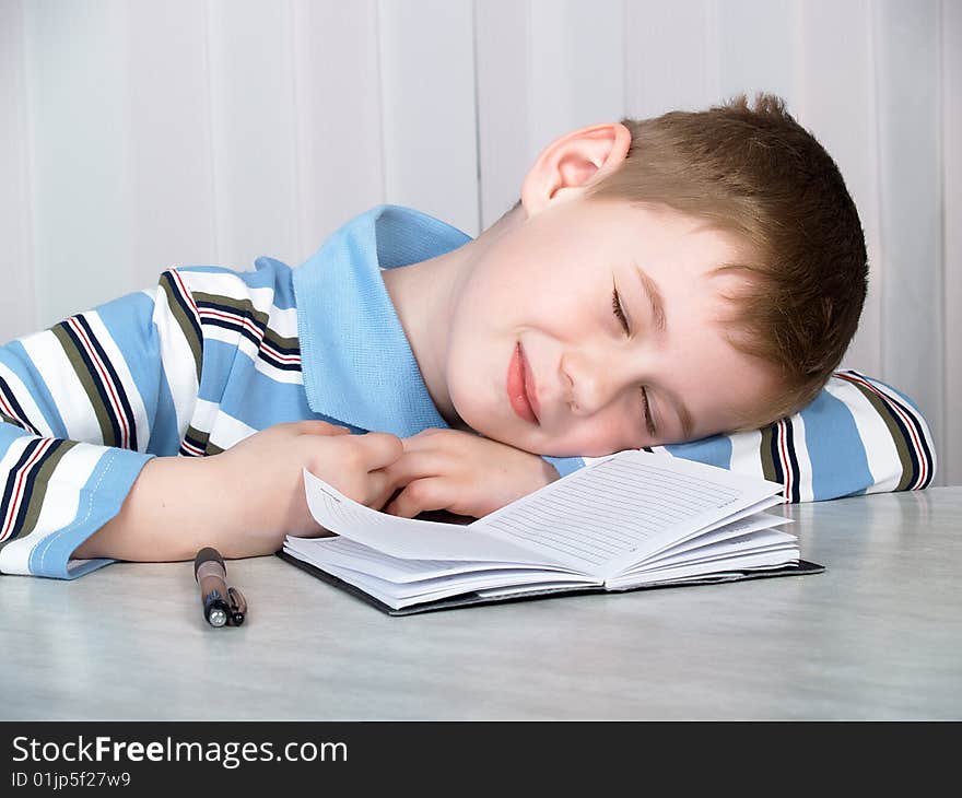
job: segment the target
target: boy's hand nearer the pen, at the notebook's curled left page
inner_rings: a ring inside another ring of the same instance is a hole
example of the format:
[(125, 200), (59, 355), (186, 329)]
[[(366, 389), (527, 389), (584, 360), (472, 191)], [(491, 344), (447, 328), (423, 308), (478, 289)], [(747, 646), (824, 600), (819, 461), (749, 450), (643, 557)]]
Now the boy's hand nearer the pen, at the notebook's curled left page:
[[(379, 508), (394, 491), (383, 469), (402, 454), (400, 438), (389, 433), (351, 435), (325, 421), (300, 421), (269, 426), (207, 459), (212, 466), (216, 462), (221, 484), (243, 509), (238, 542), (254, 536), (259, 540), (253, 544), (262, 550), (258, 553), (270, 553), (285, 535), (326, 532), (307, 507), (302, 469), (345, 496)], [(255, 553), (250, 543), (243, 545), (248, 553), (234, 556)]]

